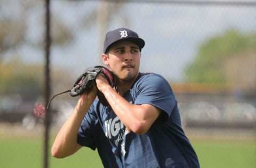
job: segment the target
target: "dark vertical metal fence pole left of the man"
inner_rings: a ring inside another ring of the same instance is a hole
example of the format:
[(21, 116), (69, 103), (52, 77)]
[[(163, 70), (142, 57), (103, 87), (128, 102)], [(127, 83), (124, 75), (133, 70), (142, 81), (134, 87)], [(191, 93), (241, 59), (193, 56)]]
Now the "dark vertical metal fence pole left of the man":
[[(50, 0), (45, 0), (45, 105), (50, 100), (51, 95), (51, 78), (50, 78), (50, 49), (51, 49), (51, 13), (50, 13)], [(43, 154), (43, 167), (49, 167), (49, 132), (51, 125), (51, 107), (46, 110), (44, 120), (44, 154)]]

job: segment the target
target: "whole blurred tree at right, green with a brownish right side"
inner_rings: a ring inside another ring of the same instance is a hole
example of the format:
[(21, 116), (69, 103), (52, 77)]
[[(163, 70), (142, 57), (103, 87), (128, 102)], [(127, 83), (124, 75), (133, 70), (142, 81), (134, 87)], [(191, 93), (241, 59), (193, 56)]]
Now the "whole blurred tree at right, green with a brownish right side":
[[(245, 35), (233, 29), (207, 39), (199, 47), (195, 60), (185, 70), (187, 80), (189, 82), (233, 83), (234, 80), (231, 79), (234, 77), (231, 77), (233, 74), (230, 73), (230, 67), (228, 68), (229, 63), (233, 62), (231, 69), (234, 71), (242, 67), (246, 68), (245, 64), (241, 66), (243, 62), (246, 62), (245, 60), (255, 62), (255, 39), (255, 33)], [(235, 59), (236, 57), (240, 58)], [(237, 78), (241, 78), (238, 74), (236, 75)], [(246, 75), (248, 79), (251, 79), (250, 75), (255, 75), (255, 73)]]

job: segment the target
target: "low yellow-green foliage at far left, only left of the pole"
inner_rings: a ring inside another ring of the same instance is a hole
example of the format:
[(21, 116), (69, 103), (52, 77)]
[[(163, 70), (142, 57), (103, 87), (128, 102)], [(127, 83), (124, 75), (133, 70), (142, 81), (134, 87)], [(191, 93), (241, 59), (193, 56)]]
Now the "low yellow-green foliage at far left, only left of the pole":
[(18, 59), (0, 63), (0, 94), (19, 94), (24, 99), (34, 99), (42, 88), (42, 66), (26, 64)]

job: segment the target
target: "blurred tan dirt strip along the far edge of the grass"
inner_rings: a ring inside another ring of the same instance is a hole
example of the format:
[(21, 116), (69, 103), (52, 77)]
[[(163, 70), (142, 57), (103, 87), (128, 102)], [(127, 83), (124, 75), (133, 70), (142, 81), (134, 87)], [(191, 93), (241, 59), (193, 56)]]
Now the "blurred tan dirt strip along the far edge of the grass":
[[(60, 128), (52, 125), (51, 136), (55, 137)], [(43, 138), (44, 125), (36, 124), (33, 129), (26, 129), (22, 124), (0, 123), (0, 138)], [(185, 129), (191, 140), (256, 140), (256, 130), (252, 129)]]

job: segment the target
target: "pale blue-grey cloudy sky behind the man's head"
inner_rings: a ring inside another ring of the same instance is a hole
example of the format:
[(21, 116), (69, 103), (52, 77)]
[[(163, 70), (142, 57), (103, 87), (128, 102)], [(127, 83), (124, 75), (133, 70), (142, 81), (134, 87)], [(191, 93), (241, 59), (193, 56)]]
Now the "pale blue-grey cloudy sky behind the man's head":
[[(82, 24), (86, 24), (82, 18), (98, 6), (93, 1), (52, 1), (53, 15), (58, 15), (75, 37), (68, 45), (52, 48), (52, 66), (61, 66), (80, 74), (87, 67), (99, 64), (102, 51), (99, 43), (104, 38), (100, 37), (100, 24), (95, 20), (89, 29), (81, 28)], [(43, 38), (44, 27), (39, 24), (43, 12), (43, 9), (30, 11), (28, 39), (36, 41)], [(207, 39), (228, 29), (255, 32), (256, 7), (126, 3), (108, 23), (106, 31), (127, 27), (138, 32), (146, 41), (141, 56), (142, 72), (156, 72), (169, 81), (179, 82), (185, 80), (184, 69), (193, 62), (198, 47)], [(25, 45), (21, 52), (26, 62), (43, 61), (44, 53), (38, 52), (38, 49)]]

